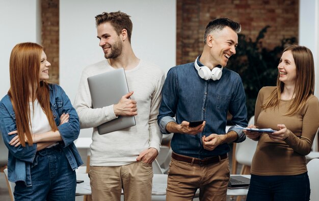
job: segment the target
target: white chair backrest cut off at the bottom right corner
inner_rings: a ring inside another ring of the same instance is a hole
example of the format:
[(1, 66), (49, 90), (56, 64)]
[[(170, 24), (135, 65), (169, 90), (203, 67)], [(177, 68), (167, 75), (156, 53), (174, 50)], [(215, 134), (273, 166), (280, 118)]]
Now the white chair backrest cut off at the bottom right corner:
[(319, 200), (319, 159), (315, 158), (307, 163), (310, 180), (310, 200)]

